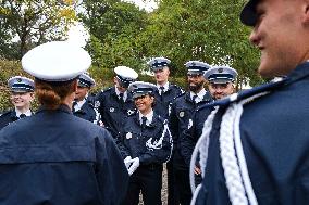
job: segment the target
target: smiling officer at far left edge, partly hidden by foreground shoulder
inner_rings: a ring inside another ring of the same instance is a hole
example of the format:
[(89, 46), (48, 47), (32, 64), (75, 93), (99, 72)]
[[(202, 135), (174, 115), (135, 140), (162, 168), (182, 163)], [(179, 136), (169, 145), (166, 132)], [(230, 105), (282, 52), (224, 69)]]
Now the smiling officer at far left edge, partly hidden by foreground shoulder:
[(34, 100), (34, 80), (14, 76), (8, 80), (11, 91), (10, 100), (14, 108), (9, 110), (0, 116), (0, 129), (17, 119), (30, 116), (30, 103)]

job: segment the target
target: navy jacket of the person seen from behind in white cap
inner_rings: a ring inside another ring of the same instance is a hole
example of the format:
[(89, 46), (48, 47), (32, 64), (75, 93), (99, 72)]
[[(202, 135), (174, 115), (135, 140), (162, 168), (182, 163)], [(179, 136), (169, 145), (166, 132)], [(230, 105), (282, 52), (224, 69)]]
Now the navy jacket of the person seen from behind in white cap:
[(67, 106), (0, 131), (1, 205), (116, 205), (127, 183), (110, 133)]

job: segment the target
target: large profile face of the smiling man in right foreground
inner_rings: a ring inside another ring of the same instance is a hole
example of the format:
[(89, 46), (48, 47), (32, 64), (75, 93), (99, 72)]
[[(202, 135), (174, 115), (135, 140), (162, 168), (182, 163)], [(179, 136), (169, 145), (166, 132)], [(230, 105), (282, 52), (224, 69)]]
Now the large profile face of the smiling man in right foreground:
[(261, 0), (256, 9), (259, 17), (249, 39), (261, 51), (259, 73), (263, 77), (286, 75), (305, 54), (299, 50), (305, 30), (300, 29), (300, 0)]

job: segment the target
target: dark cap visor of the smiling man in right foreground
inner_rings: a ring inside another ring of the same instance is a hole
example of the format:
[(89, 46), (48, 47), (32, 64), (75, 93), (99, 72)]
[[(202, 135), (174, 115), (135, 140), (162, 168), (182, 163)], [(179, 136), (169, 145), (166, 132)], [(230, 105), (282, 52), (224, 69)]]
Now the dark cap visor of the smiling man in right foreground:
[(240, 13), (240, 21), (247, 26), (255, 26), (258, 21), (256, 7), (259, 0), (249, 0)]

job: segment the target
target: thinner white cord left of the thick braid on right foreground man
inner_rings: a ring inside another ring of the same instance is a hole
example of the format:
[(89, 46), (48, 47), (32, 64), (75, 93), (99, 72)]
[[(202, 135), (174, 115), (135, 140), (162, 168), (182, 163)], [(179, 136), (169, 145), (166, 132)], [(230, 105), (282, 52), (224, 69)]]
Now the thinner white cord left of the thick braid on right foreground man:
[(196, 159), (198, 154), (200, 154), (200, 166), (201, 166), (201, 175), (203, 177), (203, 169), (206, 167), (206, 163), (207, 163), (207, 156), (208, 156), (208, 145), (209, 145), (209, 134), (212, 128), (212, 121), (213, 118), (215, 116), (215, 113), (218, 112), (219, 107), (215, 107), (211, 114), (208, 116), (208, 118), (206, 119), (206, 121), (203, 123), (203, 128), (202, 128), (202, 133), (201, 137), (199, 138), (194, 152), (193, 152), (193, 156), (191, 156), (191, 161), (190, 161), (190, 187), (191, 187), (191, 191), (193, 193), (196, 191), (198, 193), (199, 190), (196, 190), (195, 188), (195, 174), (194, 174), (194, 168), (196, 165)]

